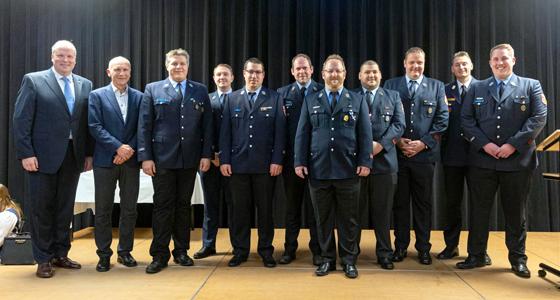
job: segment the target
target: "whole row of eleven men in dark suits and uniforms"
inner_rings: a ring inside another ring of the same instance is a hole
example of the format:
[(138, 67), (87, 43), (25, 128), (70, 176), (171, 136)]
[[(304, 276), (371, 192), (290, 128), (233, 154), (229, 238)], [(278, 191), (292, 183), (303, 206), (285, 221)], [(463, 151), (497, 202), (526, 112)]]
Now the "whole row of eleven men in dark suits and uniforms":
[(79, 174), (91, 168), (100, 272), (110, 270), (117, 182), (117, 261), (137, 265), (131, 251), (140, 167), (154, 186), (153, 260), (147, 273), (163, 270), (171, 256), (176, 264), (193, 265), (187, 251), (197, 172), (203, 179), (205, 211), (203, 245), (195, 259), (216, 253), (223, 199), (233, 246), (228, 265), (248, 259), (256, 207), (257, 251), (265, 267), (275, 267), (272, 207), (276, 177), (282, 175), (286, 231), (278, 263), (296, 259), (303, 218), (310, 228), (316, 275), (336, 269), (338, 245), (345, 275), (358, 276), (364, 224), (375, 229), (378, 264), (393, 269), (394, 262), (407, 257), (412, 207), (418, 261), (431, 264), (433, 175), (441, 155), (448, 219), (446, 248), (437, 258), (459, 255), (466, 179), (469, 255), (457, 267), (491, 264), (488, 222), (500, 188), (512, 270), (529, 277), (526, 201), (537, 163), (535, 138), (546, 122), (540, 83), (513, 73), (514, 50), (508, 44), (490, 51), (493, 76), (484, 81), (472, 78), (466, 52), (453, 56), (456, 80), (447, 86), (424, 75), (425, 60), (422, 49), (410, 48), (403, 61), (405, 76), (383, 87), (379, 64), (365, 61), (361, 87), (349, 90), (342, 57), (330, 55), (324, 61), (323, 86), (312, 79), (311, 59), (298, 54), (291, 67), (295, 82), (275, 91), (263, 86), (264, 63), (250, 58), (243, 66), (243, 88), (233, 91), (232, 68), (219, 64), (213, 72), (217, 90), (208, 94), (204, 85), (187, 79), (189, 54), (175, 49), (166, 54), (169, 77), (148, 84), (142, 94), (128, 86), (131, 64), (124, 57), (109, 62), (111, 83), (91, 91), (89, 80), (72, 73), (76, 48), (58, 41), (52, 47), (53, 67), (24, 76), (14, 113), (17, 155), (29, 175), (26, 212), (36, 275), (52, 277), (54, 266), (81, 267), (68, 258), (68, 227)]

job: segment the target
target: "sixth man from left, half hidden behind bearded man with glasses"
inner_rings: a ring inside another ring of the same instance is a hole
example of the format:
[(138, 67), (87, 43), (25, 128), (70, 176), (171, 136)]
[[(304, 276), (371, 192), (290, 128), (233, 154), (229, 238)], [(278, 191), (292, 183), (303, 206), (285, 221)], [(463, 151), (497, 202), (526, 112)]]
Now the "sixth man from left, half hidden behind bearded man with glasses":
[(296, 138), (297, 124), (301, 113), (301, 105), (305, 96), (313, 94), (324, 87), (322, 84), (311, 79), (313, 65), (311, 58), (300, 53), (292, 58), (292, 75), (296, 80), (294, 83), (278, 89), (280, 99), (284, 103), (288, 137), (286, 141), (286, 157), (282, 177), (284, 179), (284, 190), (286, 193), (286, 218), (285, 218), (285, 242), (284, 254), (278, 261), (280, 264), (289, 264), (296, 258), (298, 248), (298, 235), (301, 227), (301, 210), (304, 207), (305, 223), (309, 226), (309, 249), (313, 254), (313, 264), (321, 264), (321, 249), (317, 242), (317, 227), (313, 216), (313, 206), (309, 198), (307, 179), (299, 178), (293, 169), (294, 165), (294, 140)]

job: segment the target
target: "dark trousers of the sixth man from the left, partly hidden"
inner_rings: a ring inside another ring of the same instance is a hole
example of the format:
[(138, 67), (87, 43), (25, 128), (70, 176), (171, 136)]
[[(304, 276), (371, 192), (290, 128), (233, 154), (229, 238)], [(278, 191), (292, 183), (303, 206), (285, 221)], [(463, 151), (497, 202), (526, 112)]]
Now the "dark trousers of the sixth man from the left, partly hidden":
[(304, 220), (309, 227), (309, 249), (313, 255), (319, 255), (321, 248), (317, 241), (317, 224), (313, 214), (313, 205), (309, 197), (309, 186), (306, 179), (296, 175), (293, 168), (286, 168), (282, 173), (284, 190), (286, 191), (286, 235), (284, 254), (295, 256), (298, 248), (298, 236), (301, 228), (302, 207)]

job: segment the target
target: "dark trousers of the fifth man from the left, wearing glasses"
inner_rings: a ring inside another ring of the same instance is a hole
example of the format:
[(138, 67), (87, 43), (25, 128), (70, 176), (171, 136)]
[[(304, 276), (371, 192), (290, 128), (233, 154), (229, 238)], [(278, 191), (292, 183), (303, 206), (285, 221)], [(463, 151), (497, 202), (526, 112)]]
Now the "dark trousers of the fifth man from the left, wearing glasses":
[(261, 257), (272, 256), (274, 247), (274, 222), (272, 197), (276, 178), (269, 174), (232, 174), (230, 238), (233, 254), (247, 257), (251, 246), (251, 214), (257, 208), (259, 242), (257, 252)]

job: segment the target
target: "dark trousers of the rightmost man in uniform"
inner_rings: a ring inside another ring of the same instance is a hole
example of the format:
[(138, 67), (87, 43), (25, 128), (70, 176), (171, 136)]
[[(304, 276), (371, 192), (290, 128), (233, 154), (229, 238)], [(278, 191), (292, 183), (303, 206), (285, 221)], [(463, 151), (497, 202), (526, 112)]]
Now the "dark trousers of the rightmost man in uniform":
[(527, 196), (533, 171), (496, 171), (469, 168), (469, 255), (482, 257), (488, 245), (488, 226), (494, 196), (500, 189), (500, 202), (505, 217), (506, 246), (510, 263), (527, 262)]

